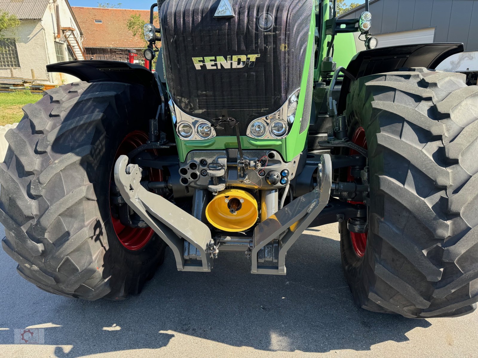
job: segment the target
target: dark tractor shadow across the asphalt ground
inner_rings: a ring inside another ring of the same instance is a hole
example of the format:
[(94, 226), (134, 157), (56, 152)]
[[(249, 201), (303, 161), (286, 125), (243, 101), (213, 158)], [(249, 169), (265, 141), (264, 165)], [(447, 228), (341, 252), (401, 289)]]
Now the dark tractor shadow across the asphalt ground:
[[(141, 295), (120, 302), (49, 295), (18, 277), (29, 297), (8, 303), (11, 314), (4, 318), (12, 328), (58, 325), (45, 329), (45, 344), (73, 348), (56, 347), (57, 357), (159, 348), (178, 334), (266, 351), (369, 350), (431, 326), (357, 307), (342, 274), (339, 242), (318, 236), (320, 228), (309, 233), (289, 251), (286, 276), (252, 275), (239, 253), (220, 253), (209, 274), (182, 273), (168, 250)], [(45, 302), (48, 309), (35, 310)], [(11, 343), (2, 337), (0, 343)]]

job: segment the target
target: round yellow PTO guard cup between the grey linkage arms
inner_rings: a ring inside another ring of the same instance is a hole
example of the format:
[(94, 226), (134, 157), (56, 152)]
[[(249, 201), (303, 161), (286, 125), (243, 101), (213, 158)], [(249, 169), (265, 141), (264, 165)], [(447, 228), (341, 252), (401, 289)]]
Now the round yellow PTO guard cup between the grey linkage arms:
[(229, 232), (249, 229), (258, 214), (257, 201), (240, 189), (223, 190), (206, 206), (207, 220), (217, 229)]

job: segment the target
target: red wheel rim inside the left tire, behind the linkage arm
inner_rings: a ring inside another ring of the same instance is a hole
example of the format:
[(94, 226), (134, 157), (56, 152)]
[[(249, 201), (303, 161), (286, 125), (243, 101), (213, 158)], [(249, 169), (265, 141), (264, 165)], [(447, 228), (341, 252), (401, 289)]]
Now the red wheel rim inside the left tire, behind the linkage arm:
[[(146, 133), (136, 130), (128, 134), (118, 147), (115, 155), (115, 162), (120, 155), (128, 154), (131, 150), (141, 146), (146, 143), (148, 136)], [(150, 171), (151, 180), (163, 180), (163, 173), (161, 170), (151, 169)], [(121, 244), (126, 247), (128, 250), (136, 251), (143, 248), (152, 238), (154, 230), (151, 228), (130, 228), (121, 224), (121, 221), (113, 216), (113, 213), (110, 211), (111, 222), (113, 223), (113, 229), (118, 236), (118, 240)]]

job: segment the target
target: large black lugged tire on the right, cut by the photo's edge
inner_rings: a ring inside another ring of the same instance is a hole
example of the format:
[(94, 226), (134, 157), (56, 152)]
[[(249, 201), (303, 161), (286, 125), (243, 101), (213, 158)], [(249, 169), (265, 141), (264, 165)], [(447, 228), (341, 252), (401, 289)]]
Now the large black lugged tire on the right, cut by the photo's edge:
[(369, 233), (355, 254), (340, 224), (358, 305), (411, 318), (461, 316), (478, 301), (478, 87), (412, 68), (352, 84), (351, 130), (369, 149)]

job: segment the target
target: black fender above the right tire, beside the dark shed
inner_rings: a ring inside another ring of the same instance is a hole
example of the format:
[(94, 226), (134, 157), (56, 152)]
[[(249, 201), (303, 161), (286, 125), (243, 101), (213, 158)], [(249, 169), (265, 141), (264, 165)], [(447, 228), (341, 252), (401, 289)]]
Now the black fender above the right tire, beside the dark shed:
[[(382, 74), (403, 67), (425, 67), (435, 69), (443, 60), (456, 53), (464, 52), (463, 43), (423, 43), (382, 47), (359, 52), (347, 66), (355, 79), (371, 74)], [(337, 113), (342, 114), (347, 106), (347, 95), (353, 79), (344, 77)]]

